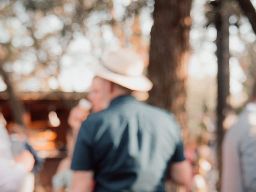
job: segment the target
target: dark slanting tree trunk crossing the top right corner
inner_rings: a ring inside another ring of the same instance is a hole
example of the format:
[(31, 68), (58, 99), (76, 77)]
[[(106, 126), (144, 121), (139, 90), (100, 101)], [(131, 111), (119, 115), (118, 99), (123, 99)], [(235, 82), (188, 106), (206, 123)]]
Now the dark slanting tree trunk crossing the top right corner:
[(256, 34), (256, 11), (250, 0), (237, 0), (244, 15), (249, 19), (252, 29)]

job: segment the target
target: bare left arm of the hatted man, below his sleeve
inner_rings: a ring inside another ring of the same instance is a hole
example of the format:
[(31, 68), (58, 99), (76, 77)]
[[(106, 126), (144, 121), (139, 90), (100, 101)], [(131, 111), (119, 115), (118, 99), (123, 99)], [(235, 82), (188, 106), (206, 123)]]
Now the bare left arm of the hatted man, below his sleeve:
[(74, 171), (71, 192), (91, 192), (93, 171)]

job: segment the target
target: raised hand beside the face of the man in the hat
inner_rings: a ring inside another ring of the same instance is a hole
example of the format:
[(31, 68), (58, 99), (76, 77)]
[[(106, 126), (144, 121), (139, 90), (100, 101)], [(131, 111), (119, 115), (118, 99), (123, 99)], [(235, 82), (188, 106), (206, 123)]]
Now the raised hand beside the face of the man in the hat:
[(82, 122), (86, 119), (88, 114), (88, 110), (83, 110), (79, 106), (76, 106), (70, 111), (70, 114), (68, 116), (68, 124), (73, 130), (78, 131)]

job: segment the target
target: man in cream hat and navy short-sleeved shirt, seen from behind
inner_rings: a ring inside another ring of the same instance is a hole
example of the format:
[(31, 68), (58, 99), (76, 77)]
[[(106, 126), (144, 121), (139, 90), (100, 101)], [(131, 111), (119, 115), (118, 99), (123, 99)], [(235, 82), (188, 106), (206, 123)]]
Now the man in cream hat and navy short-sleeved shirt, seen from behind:
[(165, 192), (169, 168), (174, 181), (188, 185), (190, 166), (173, 116), (131, 96), (132, 90), (152, 88), (143, 67), (140, 56), (119, 50), (93, 69), (92, 85), (100, 84), (107, 108), (82, 123), (71, 165), (72, 192), (90, 192), (93, 178), (95, 192)]

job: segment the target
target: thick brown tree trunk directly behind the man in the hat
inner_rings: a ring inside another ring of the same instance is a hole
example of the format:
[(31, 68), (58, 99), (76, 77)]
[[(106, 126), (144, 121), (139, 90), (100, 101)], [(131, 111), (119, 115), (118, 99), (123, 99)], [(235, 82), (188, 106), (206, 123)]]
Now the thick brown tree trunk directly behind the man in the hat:
[(183, 134), (187, 121), (185, 102), (191, 4), (192, 0), (155, 1), (148, 66), (148, 76), (153, 82), (148, 102), (174, 113)]

